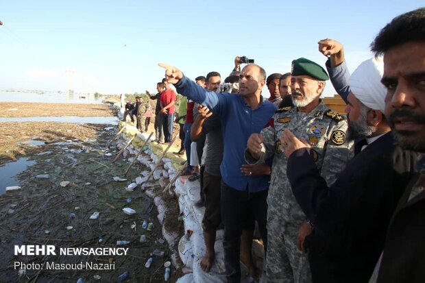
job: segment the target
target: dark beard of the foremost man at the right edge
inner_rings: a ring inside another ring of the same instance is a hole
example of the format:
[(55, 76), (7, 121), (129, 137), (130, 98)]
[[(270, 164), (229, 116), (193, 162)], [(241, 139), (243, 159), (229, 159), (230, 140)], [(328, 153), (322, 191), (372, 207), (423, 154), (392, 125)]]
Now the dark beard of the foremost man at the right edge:
[[(394, 129), (394, 119), (408, 116), (413, 122), (425, 124), (425, 115), (416, 114), (410, 109), (395, 109), (389, 115), (389, 125), (391, 129)], [(393, 130), (393, 136), (396, 138), (398, 145), (404, 149), (425, 152), (425, 142), (423, 138), (418, 135), (423, 133), (406, 131), (406, 130)]]

